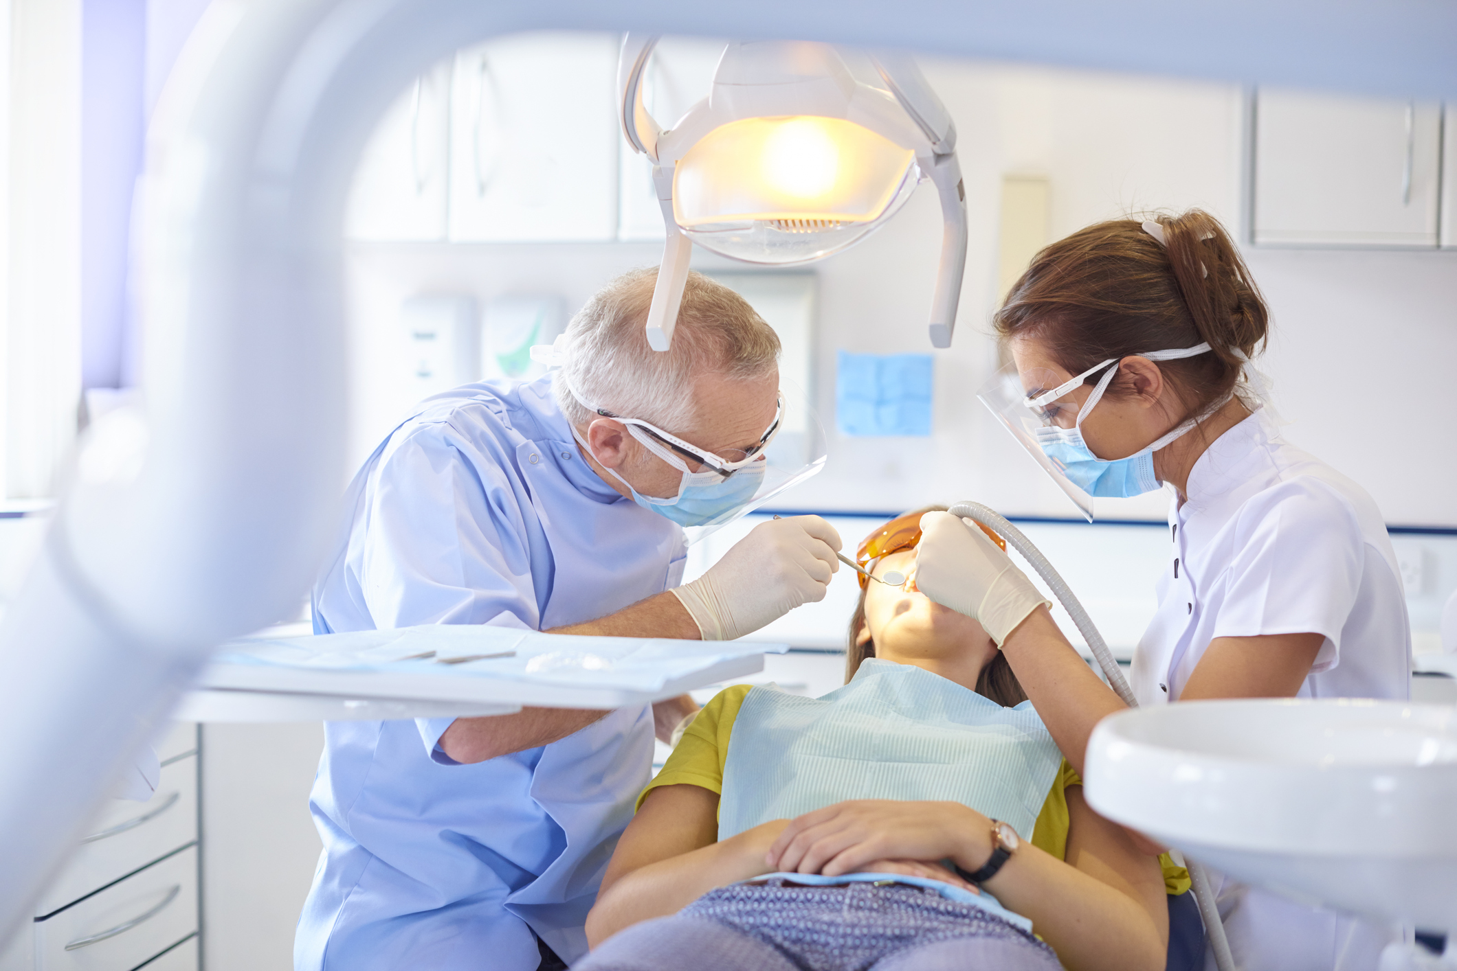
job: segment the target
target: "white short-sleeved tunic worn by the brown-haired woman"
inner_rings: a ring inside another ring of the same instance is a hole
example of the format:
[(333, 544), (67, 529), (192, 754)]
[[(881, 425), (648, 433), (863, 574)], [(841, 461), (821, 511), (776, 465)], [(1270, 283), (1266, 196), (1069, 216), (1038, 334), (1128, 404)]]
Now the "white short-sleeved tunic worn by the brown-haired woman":
[[(1410, 697), (1402, 574), (1375, 502), (1285, 443), (1263, 411), (1195, 463), (1169, 540), (1158, 611), (1134, 654), (1139, 705), (1177, 700), (1215, 638), (1275, 633), (1326, 638), (1300, 697)], [(1211, 876), (1241, 971), (1368, 971), (1396, 939)]]

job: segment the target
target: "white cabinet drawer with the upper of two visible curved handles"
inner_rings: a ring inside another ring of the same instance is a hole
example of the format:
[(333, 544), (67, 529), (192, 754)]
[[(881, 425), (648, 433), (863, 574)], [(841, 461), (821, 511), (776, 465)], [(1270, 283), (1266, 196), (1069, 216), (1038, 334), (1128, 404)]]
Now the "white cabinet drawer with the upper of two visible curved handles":
[(36, 907), (45, 916), (197, 839), (197, 756), (162, 767), (147, 802), (114, 799)]

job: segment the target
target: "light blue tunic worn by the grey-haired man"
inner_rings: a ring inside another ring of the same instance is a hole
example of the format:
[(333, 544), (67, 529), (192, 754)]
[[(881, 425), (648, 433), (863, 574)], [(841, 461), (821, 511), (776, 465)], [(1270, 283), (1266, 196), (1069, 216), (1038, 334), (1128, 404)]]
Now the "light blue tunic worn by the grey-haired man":
[[(545, 630), (683, 574), (682, 530), (587, 467), (549, 376), (427, 399), (364, 463), (348, 508), (315, 587), (316, 633)], [(452, 721), (325, 725), (299, 971), (532, 971), (533, 930), (568, 962), (586, 954), (583, 922), (648, 782), (651, 710), (469, 766), (436, 748)]]

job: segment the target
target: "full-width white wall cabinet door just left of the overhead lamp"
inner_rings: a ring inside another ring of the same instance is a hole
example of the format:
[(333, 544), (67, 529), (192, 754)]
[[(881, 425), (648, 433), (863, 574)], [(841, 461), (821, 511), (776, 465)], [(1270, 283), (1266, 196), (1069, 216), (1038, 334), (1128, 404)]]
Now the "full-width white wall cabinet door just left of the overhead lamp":
[(453, 242), (616, 239), (618, 44), (520, 33), (456, 54)]

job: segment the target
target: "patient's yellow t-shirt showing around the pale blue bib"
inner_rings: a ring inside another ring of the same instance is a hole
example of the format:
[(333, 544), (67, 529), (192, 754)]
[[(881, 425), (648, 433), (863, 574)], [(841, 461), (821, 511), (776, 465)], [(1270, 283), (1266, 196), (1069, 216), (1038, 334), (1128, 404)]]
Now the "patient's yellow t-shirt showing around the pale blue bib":
[[(708, 705), (698, 712), (683, 738), (678, 742), (673, 754), (667, 757), (663, 772), (648, 783), (637, 805), (643, 806), (647, 793), (659, 786), (699, 786), (710, 792), (723, 795), (724, 764), (728, 761), (728, 738), (733, 735), (734, 719), (739, 718), (739, 708), (752, 684), (736, 684), (714, 696)], [(1072, 772), (1068, 760), (1062, 760), (1058, 777), (1052, 782), (1048, 801), (1042, 804), (1037, 823), (1032, 828), (1032, 844), (1040, 850), (1056, 856), (1059, 860), (1068, 856), (1068, 786), (1081, 786), (1083, 779)], [(1189, 889), (1189, 871), (1174, 866), (1167, 855), (1158, 857), (1164, 868), (1164, 888), (1170, 894), (1182, 894)]]

